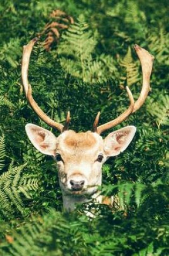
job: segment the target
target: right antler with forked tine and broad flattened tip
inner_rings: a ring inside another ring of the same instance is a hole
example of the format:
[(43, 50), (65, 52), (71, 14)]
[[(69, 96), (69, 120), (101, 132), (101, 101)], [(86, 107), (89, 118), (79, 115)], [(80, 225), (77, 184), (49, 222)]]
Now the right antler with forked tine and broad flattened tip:
[(124, 113), (122, 113), (120, 116), (118, 116), (116, 119), (114, 119), (110, 122), (107, 122), (105, 124), (102, 124), (99, 127), (97, 127), (98, 122), (99, 122), (99, 113), (98, 113), (97, 117), (95, 118), (94, 124), (93, 124), (94, 132), (97, 132), (98, 134), (101, 134), (105, 130), (115, 127), (115, 126), (117, 126), (117, 124), (126, 120), (129, 115), (131, 115), (132, 113), (136, 112), (136, 110), (141, 108), (146, 97), (148, 96), (148, 93), (150, 91), (150, 75), (151, 75), (151, 71), (152, 71), (152, 64), (153, 64), (153, 60), (155, 58), (148, 51), (139, 47), (138, 45), (135, 45), (134, 49), (137, 53), (137, 56), (139, 58), (141, 66), (142, 66), (143, 85), (142, 85), (141, 93), (140, 93), (137, 101), (134, 102), (133, 95), (131, 94), (130, 89), (127, 86), (126, 89), (127, 89), (127, 93), (128, 93), (129, 99), (130, 99), (129, 108)]

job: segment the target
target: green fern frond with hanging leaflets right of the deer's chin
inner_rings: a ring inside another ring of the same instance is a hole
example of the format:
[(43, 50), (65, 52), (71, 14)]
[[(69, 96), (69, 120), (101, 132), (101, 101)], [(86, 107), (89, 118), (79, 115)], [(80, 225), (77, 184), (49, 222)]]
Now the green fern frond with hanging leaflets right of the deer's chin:
[(103, 195), (118, 197), (118, 207), (113, 206), (113, 211), (123, 210), (125, 214), (133, 207), (138, 215), (156, 217), (168, 207), (168, 184), (161, 182), (160, 179), (151, 185), (140, 182), (104, 185), (101, 191)]

